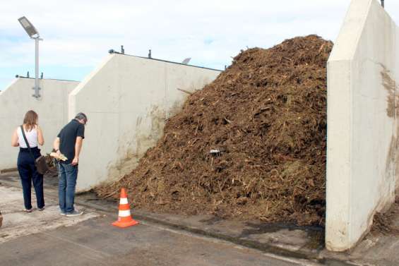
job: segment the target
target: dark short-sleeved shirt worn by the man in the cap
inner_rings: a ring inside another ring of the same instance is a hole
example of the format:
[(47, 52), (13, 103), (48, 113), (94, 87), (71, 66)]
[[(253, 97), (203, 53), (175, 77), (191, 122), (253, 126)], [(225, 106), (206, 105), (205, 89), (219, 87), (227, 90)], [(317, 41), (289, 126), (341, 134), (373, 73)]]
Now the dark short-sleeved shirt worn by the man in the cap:
[(75, 157), (76, 138), (85, 138), (85, 126), (76, 119), (67, 123), (57, 135), (59, 138), (59, 151), (68, 158), (63, 164), (71, 164)]

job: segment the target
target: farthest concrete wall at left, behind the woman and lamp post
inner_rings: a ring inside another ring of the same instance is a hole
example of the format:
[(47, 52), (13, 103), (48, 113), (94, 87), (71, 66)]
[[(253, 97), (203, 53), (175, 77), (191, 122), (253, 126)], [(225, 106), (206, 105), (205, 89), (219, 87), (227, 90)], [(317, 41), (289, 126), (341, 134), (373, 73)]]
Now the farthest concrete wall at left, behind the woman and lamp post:
[(40, 99), (32, 97), (32, 78), (17, 78), (0, 92), (0, 170), (16, 167), (18, 148), (11, 147), (11, 135), (23, 123), (26, 111), (32, 109), (39, 115), (44, 134), (42, 155), (52, 150), (56, 134), (68, 120), (68, 95), (78, 82), (41, 79), (39, 85)]

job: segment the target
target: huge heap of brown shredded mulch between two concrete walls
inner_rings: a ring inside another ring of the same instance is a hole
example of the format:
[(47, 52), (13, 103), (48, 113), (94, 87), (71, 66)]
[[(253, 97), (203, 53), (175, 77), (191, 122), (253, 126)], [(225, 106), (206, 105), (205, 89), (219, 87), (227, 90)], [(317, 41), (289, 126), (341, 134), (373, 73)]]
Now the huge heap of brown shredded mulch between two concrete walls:
[(95, 189), (134, 207), (226, 219), (323, 225), (326, 62), (316, 35), (247, 49), (170, 118), (120, 181)]

